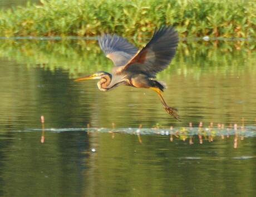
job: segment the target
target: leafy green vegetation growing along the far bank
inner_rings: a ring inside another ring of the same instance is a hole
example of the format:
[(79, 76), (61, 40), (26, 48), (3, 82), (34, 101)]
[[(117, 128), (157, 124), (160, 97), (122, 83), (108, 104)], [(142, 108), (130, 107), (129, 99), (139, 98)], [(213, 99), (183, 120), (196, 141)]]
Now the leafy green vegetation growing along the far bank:
[(151, 36), (172, 24), (181, 37), (256, 37), (256, 4), (221, 0), (41, 0), (0, 11), (0, 36)]

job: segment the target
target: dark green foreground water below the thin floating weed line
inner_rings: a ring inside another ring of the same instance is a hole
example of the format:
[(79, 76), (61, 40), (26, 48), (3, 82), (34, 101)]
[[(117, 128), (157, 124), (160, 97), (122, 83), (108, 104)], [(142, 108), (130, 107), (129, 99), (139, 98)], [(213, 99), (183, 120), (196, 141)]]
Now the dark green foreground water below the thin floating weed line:
[[(255, 194), (255, 138), (193, 145), (168, 137), (12, 132), (3, 140), (5, 196), (227, 196)], [(8, 142), (8, 143), (6, 143)], [(95, 148), (96, 151), (91, 151)]]

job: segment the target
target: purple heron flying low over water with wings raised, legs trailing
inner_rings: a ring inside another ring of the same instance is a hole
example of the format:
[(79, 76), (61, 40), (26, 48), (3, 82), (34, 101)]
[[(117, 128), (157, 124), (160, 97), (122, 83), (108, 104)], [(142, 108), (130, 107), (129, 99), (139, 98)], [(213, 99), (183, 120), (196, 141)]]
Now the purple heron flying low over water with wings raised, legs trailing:
[(166, 88), (165, 83), (156, 80), (156, 73), (168, 67), (173, 59), (178, 42), (178, 33), (171, 26), (156, 28), (151, 40), (141, 50), (115, 34), (103, 34), (99, 37), (99, 45), (106, 57), (115, 64), (111, 74), (100, 71), (75, 80), (99, 79), (97, 85), (102, 91), (121, 84), (152, 89), (159, 96), (166, 112), (179, 120), (178, 110), (169, 107), (161, 94)]

